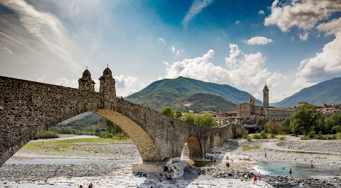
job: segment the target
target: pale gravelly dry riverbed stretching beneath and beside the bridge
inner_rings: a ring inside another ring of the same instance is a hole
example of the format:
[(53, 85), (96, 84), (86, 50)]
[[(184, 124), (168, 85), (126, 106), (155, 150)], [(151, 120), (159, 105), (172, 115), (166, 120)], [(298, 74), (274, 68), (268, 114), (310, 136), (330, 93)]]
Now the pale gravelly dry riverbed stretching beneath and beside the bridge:
[[(205, 167), (197, 167), (195, 174), (184, 174), (174, 181), (157, 181), (158, 174), (131, 173), (131, 164), (141, 162), (141, 157), (136, 146), (131, 142), (118, 142), (106, 139), (73, 139), (54, 140), (29, 143), (19, 150), (7, 163), (0, 167), (0, 188), (9, 186), (25, 188), (26, 185), (58, 185), (56, 188), (78, 188), (89, 182), (95, 183), (96, 188), (272, 188), (274, 186), (305, 185), (310, 188), (341, 188), (341, 177), (314, 177), (312, 179), (288, 178), (285, 176), (271, 176), (259, 174), (260, 181), (257, 186), (253, 185), (253, 167), (260, 162), (286, 162), (292, 164), (328, 165), (341, 167), (341, 155), (337, 154), (314, 154), (290, 152), (286, 150), (268, 149), (268, 144), (275, 144), (280, 148), (294, 150), (315, 150), (320, 152), (341, 153), (340, 141), (279, 141), (277, 140), (245, 140), (235, 139), (225, 142), (224, 146), (213, 149), (213, 156), (217, 162), (210, 163), (196, 161)], [(316, 145), (316, 147), (312, 146)], [(333, 148), (333, 149), (332, 149)], [(185, 152), (186, 153), (186, 152)], [(267, 153), (267, 158), (264, 154)], [(228, 156), (228, 160), (226, 159)], [(250, 161), (243, 160), (250, 157)], [(184, 157), (186, 158), (186, 157)], [(48, 160), (52, 164), (30, 164), (29, 161)], [(76, 164), (72, 164), (73, 160)], [(28, 161), (23, 164), (21, 161)], [(58, 161), (58, 163), (53, 163)], [(63, 161), (72, 163), (63, 164)], [(88, 164), (90, 161), (94, 164)], [(118, 162), (119, 161), (119, 162)], [(226, 169), (225, 163), (229, 161), (234, 169)], [(128, 162), (128, 163), (127, 163)], [(17, 164), (16, 164), (17, 163)], [(62, 164), (60, 164), (62, 163)], [(79, 163), (79, 164), (78, 164)], [(194, 163), (191, 162), (190, 163)], [(214, 167), (212, 167), (214, 166)], [(181, 173), (180, 173), (181, 174)], [(341, 173), (340, 173), (341, 174)], [(241, 181), (245, 178), (246, 181)], [(20, 184), (16, 184), (20, 183)], [(22, 186), (22, 187), (21, 187)], [(61, 187), (60, 187), (61, 186)], [(39, 187), (39, 188), (45, 188)], [(28, 188), (31, 188), (28, 186)]]

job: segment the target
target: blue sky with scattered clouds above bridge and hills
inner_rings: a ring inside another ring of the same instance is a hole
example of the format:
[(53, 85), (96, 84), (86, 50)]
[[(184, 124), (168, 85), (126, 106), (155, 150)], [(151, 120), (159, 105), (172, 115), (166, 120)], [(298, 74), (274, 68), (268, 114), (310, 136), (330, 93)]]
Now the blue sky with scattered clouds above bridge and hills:
[(341, 75), (341, 0), (0, 0), (0, 75), (118, 96), (179, 76), (278, 102)]

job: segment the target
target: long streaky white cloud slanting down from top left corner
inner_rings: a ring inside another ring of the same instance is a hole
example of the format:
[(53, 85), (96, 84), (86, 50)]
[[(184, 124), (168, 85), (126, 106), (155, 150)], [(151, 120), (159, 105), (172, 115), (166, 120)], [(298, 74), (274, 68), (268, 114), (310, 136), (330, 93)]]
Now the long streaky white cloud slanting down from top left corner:
[(74, 72), (82, 69), (73, 60), (67, 48), (69, 40), (66, 36), (66, 28), (54, 15), (39, 12), (34, 6), (24, 0), (4, 0), (0, 1), (0, 4), (17, 13), (19, 21), (21, 21), (26, 30), (43, 42), (52, 53), (71, 65), (71, 71)]

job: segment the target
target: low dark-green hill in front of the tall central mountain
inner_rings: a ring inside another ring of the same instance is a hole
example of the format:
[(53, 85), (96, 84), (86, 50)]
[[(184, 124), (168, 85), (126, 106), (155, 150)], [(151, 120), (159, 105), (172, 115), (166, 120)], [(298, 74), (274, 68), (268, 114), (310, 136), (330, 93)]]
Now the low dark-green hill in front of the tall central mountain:
[(209, 93), (196, 93), (187, 98), (180, 99), (176, 102), (186, 109), (195, 111), (230, 111), (238, 109), (238, 105), (234, 104), (218, 95)]

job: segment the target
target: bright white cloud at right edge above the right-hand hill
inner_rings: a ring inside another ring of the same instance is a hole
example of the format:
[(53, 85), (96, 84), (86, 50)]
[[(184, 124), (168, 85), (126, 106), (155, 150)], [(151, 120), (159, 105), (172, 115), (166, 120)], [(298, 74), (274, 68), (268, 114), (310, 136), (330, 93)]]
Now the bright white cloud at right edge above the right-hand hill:
[(324, 45), (315, 57), (302, 60), (296, 74), (296, 86), (306, 87), (341, 75), (341, 32)]

